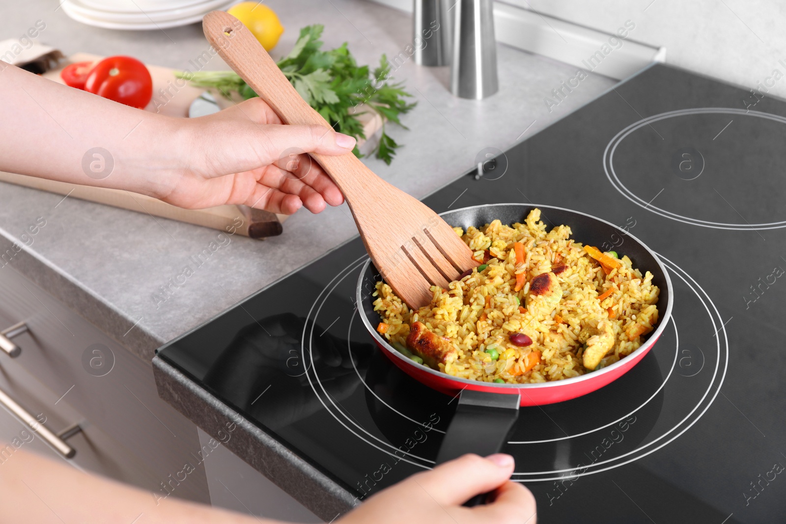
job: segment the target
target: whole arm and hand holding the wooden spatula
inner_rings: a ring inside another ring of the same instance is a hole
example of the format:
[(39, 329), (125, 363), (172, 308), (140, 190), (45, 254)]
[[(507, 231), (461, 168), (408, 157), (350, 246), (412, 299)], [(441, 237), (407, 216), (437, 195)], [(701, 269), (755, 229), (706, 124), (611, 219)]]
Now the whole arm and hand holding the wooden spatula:
[(259, 98), (198, 119), (173, 118), (2, 60), (0, 93), (0, 115), (9, 123), (0, 126), (0, 170), (125, 189), (189, 208), (242, 203), (292, 214), (343, 203), (306, 153), (351, 154), (354, 138), (328, 127), (282, 125)]

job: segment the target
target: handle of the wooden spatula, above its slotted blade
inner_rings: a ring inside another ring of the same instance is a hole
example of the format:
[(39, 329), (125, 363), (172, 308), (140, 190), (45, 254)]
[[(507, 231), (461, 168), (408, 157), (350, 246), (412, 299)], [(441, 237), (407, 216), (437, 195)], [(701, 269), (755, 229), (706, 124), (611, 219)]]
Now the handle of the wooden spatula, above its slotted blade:
[[(208, 42), (222, 59), (273, 108), (284, 123), (317, 124), (331, 129), (330, 124), (300, 97), (262, 44), (240, 20), (224, 11), (212, 11), (204, 16), (202, 27)], [(354, 189), (358, 187), (358, 170), (367, 171), (367, 176), (382, 182), (351, 153), (342, 156), (312, 156), (336, 181), (336, 185), (350, 203), (354, 200)], [(362, 198), (362, 195), (358, 195), (358, 198)]]

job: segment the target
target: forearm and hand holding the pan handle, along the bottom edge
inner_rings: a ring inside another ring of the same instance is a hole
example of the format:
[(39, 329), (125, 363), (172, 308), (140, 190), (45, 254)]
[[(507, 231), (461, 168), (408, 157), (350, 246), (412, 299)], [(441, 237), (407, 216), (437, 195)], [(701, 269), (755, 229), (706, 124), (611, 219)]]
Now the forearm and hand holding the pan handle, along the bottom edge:
[[(0, 449), (10, 448), (0, 440)], [(535, 524), (532, 493), (508, 481), (512, 471), (509, 455), (465, 455), (380, 491), (337, 524)], [(461, 506), (491, 490), (494, 500), (489, 504)], [(177, 497), (151, 496), (27, 449), (6, 453), (0, 508), (2, 523), (132, 522), (145, 515), (140, 524), (285, 524)]]

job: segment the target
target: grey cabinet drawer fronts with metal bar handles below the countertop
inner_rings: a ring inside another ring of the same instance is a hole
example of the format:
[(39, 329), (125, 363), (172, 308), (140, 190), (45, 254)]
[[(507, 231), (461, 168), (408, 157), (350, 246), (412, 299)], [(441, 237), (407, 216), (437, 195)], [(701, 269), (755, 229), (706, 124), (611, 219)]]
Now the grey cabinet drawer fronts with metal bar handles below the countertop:
[(148, 363), (6, 266), (0, 329), (19, 322), (28, 331), (13, 338), (17, 357), (0, 352), (0, 389), (50, 431), (79, 424), (68, 460), (160, 497), (209, 501), (203, 467), (178, 481), (200, 451), (196, 426), (158, 398)]

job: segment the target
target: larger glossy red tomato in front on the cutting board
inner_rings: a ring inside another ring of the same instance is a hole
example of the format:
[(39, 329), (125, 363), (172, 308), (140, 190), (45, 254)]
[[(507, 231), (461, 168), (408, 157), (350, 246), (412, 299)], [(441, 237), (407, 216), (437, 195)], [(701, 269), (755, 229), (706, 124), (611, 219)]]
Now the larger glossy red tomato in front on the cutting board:
[(108, 57), (87, 75), (85, 90), (142, 109), (152, 98), (152, 79), (136, 58)]

